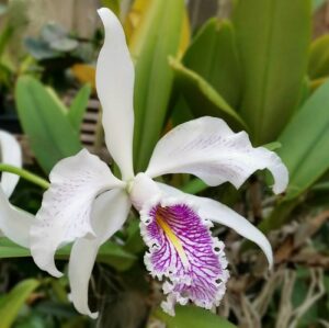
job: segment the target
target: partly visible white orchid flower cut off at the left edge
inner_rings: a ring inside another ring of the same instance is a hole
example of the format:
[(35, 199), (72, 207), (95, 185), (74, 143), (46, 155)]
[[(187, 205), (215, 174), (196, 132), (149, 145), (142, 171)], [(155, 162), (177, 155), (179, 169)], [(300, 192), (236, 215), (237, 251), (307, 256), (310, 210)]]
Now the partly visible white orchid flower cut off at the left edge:
[[(0, 131), (0, 162), (22, 168), (22, 150), (16, 139), (8, 132)], [(14, 242), (30, 246), (29, 231), (33, 216), (13, 207), (8, 199), (14, 191), (20, 177), (1, 172), (0, 181), (0, 236), (3, 234)]]

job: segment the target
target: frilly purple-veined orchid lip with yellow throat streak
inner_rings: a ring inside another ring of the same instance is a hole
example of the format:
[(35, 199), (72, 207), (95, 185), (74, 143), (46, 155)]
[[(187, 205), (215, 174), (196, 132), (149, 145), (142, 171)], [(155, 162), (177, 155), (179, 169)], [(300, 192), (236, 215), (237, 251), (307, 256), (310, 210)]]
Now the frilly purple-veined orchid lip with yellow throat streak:
[(140, 230), (149, 247), (146, 267), (166, 280), (162, 308), (174, 315), (175, 303), (218, 306), (229, 274), (224, 244), (211, 235), (212, 223), (183, 201), (158, 202), (141, 216)]

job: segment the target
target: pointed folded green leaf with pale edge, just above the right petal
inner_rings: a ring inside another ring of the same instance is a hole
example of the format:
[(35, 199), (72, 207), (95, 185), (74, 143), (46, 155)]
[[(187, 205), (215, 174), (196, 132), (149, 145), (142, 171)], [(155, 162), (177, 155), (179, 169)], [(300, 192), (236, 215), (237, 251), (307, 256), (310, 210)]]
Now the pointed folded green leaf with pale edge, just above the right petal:
[(177, 60), (170, 60), (170, 65), (175, 72), (177, 86), (195, 116), (218, 116), (231, 127), (248, 129), (239, 114), (205, 79)]

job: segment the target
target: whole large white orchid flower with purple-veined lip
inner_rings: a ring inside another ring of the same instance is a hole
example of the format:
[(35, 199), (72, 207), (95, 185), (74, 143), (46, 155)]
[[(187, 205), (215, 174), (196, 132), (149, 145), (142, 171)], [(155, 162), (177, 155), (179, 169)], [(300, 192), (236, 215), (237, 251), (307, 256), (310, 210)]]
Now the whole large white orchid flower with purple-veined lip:
[(272, 265), (265, 236), (246, 218), (213, 200), (182, 193), (152, 179), (169, 173), (191, 173), (208, 185), (226, 181), (239, 188), (256, 170), (268, 168), (275, 193), (284, 191), (287, 170), (272, 151), (253, 148), (245, 132), (234, 133), (219, 118), (202, 117), (181, 124), (162, 137), (145, 172), (133, 170), (134, 66), (125, 35), (107, 9), (99, 14), (105, 41), (97, 65), (97, 89), (103, 108), (105, 142), (122, 180), (106, 163), (86, 149), (63, 159), (50, 172), (36, 223), (31, 229), (31, 252), (36, 264), (60, 276), (56, 250), (72, 242), (69, 259), (71, 301), (95, 318), (88, 306), (88, 284), (100, 246), (125, 223), (133, 205), (140, 213), (140, 231), (149, 250), (149, 272), (166, 280), (162, 307), (192, 301), (211, 308), (219, 304), (228, 279), (224, 245), (213, 238), (211, 222), (235, 229), (264, 251)]

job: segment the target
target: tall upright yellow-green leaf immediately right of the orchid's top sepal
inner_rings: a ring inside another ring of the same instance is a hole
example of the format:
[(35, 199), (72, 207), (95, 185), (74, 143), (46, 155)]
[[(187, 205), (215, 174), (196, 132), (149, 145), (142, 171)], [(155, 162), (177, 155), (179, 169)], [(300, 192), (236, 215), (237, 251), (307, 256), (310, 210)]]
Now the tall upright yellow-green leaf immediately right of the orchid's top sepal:
[(136, 60), (136, 171), (146, 168), (161, 135), (173, 82), (168, 57), (179, 53), (183, 13), (183, 0), (151, 1), (129, 42), (132, 56)]

